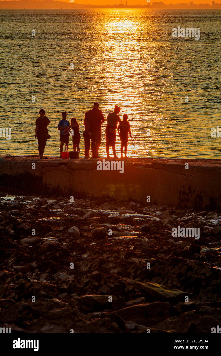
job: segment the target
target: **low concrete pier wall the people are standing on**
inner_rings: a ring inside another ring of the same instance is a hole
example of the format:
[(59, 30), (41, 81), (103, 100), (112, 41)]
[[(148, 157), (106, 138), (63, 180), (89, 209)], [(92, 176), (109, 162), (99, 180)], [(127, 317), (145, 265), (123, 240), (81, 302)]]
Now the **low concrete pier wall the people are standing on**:
[(98, 171), (97, 161), (102, 162), (102, 158), (39, 160), (38, 156), (11, 156), (0, 161), (0, 184), (39, 195), (111, 197), (147, 205), (149, 196), (152, 204), (221, 208), (219, 159), (129, 158), (124, 173)]

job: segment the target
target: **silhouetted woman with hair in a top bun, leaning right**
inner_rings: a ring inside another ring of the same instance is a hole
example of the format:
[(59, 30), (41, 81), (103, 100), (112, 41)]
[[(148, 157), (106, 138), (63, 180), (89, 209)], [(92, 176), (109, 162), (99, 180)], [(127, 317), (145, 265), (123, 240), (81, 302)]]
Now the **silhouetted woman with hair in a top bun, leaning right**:
[(107, 126), (106, 126), (106, 152), (107, 152), (107, 158), (110, 158), (109, 156), (109, 146), (112, 146), (112, 150), (114, 153), (114, 158), (116, 157), (116, 128), (117, 128), (117, 123), (121, 122), (120, 116), (118, 115), (121, 109), (119, 106), (115, 105), (114, 112), (110, 112), (110, 114), (107, 115)]

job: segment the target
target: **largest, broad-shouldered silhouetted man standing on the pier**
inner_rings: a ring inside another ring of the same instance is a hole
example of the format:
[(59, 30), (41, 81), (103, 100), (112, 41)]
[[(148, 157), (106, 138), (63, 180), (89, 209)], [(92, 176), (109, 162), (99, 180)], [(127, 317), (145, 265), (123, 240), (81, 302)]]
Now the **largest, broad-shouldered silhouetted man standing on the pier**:
[(104, 122), (104, 115), (99, 110), (99, 104), (94, 103), (93, 109), (85, 115), (87, 130), (90, 133), (92, 158), (99, 158), (98, 151), (101, 144), (101, 125)]

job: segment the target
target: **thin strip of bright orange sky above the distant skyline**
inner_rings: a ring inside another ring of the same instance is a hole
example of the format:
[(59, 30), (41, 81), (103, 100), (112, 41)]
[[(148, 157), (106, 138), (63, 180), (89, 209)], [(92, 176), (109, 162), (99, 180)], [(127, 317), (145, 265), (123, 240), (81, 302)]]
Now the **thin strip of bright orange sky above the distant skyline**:
[[(4, 1), (4, 0), (0, 0)], [(17, 0), (14, 0), (17, 1)], [(34, 1), (34, 0), (33, 0)], [(44, 0), (42, 0), (44, 1)], [(70, 0), (60, 0), (60, 1), (65, 1), (65, 2), (70, 2)], [(74, 0), (74, 3), (77, 4), (87, 4), (87, 5), (114, 5), (118, 1), (118, 4), (120, 4), (120, 0)], [(125, 4), (126, 0), (122, 0), (122, 4)], [(157, 1), (157, 0), (155, 0)], [(188, 0), (158, 0), (158, 2), (163, 1), (165, 4), (179, 4), (179, 3), (186, 3), (189, 4), (190, 1)], [(209, 4), (211, 5), (212, 0), (193, 0), (194, 4)], [(153, 0), (151, 0), (152, 4)], [(220, 3), (221, 0), (216, 0), (216, 3)], [(127, 0), (127, 5), (146, 5), (147, 1), (146, 0)]]

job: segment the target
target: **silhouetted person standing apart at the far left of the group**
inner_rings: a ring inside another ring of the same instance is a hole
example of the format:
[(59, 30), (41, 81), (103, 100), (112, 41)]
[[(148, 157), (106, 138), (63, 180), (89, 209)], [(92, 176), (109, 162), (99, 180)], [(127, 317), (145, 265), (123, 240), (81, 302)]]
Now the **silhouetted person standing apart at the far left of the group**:
[(38, 152), (40, 159), (48, 159), (48, 157), (44, 156), (44, 149), (48, 139), (48, 125), (50, 124), (50, 120), (47, 116), (44, 116), (45, 111), (41, 109), (39, 111), (40, 116), (36, 120), (35, 126), (35, 138), (38, 138)]

